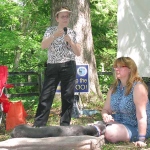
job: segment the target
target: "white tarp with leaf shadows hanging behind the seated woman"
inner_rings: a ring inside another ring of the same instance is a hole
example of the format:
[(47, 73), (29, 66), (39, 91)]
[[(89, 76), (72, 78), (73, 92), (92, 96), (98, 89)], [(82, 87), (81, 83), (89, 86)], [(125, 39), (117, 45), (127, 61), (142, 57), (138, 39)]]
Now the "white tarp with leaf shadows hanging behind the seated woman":
[(117, 57), (129, 56), (150, 77), (150, 0), (118, 0)]

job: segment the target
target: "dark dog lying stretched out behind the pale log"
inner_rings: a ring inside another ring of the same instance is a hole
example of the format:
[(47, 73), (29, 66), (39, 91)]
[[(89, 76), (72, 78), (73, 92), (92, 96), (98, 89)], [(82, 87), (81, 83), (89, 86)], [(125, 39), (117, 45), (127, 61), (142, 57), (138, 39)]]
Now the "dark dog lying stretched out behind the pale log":
[(106, 125), (103, 121), (81, 126), (45, 126), (40, 128), (31, 127), (29, 125), (19, 125), (14, 128), (11, 133), (12, 138), (44, 138), (44, 137), (59, 137), (59, 136), (81, 136), (90, 135), (99, 137), (105, 133)]

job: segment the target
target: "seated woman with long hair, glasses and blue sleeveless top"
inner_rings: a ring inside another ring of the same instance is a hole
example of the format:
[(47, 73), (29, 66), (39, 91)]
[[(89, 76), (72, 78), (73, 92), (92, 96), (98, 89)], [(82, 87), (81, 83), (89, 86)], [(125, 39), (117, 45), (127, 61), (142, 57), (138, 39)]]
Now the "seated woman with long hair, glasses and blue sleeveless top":
[(114, 61), (115, 82), (107, 93), (102, 110), (109, 142), (134, 142), (145, 146), (150, 137), (150, 103), (147, 86), (130, 57)]

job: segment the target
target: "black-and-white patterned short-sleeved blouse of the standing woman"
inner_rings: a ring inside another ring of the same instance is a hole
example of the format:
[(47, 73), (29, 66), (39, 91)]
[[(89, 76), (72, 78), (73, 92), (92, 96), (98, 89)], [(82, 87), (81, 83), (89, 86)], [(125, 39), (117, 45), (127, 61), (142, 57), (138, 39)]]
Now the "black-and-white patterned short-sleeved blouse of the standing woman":
[[(50, 37), (56, 30), (57, 26), (47, 28), (44, 37)], [(67, 34), (74, 43), (77, 43), (75, 31), (67, 28)], [(64, 63), (70, 60), (75, 60), (75, 54), (71, 46), (67, 45), (64, 35), (56, 38), (48, 48), (47, 63)]]

